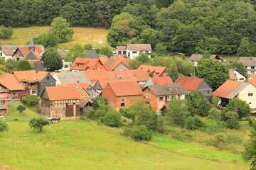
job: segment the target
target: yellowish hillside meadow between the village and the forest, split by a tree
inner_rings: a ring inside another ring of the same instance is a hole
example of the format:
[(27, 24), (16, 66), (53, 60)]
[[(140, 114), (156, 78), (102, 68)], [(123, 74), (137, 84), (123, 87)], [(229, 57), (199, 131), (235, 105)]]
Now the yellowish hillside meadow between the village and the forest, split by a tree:
[[(31, 36), (38, 37), (41, 33), (46, 33), (50, 26), (31, 26), (28, 28), (14, 28), (14, 35), (9, 40), (0, 39), (1, 44), (24, 45), (28, 44)], [(60, 44), (60, 48), (69, 48), (75, 43), (85, 45), (85, 43), (92, 43), (94, 47), (100, 47), (98, 41), (102, 40), (107, 42), (107, 28), (87, 28), (87, 27), (74, 27), (75, 33), (70, 42)]]

